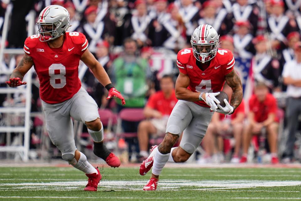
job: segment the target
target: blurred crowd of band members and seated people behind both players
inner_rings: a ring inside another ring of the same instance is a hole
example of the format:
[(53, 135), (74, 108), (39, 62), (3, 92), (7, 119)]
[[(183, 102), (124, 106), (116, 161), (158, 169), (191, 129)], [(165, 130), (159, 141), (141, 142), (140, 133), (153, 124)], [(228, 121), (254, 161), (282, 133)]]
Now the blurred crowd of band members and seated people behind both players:
[[(212, 25), (220, 35), (219, 47), (233, 52), (244, 100), (234, 115), (214, 114), (191, 160), (276, 164), (301, 159), (301, 0), (2, 0), (1, 30), (9, 3), (13, 9), (6, 48), (23, 48), (29, 12), (37, 17), (51, 4), (67, 8), (69, 31), (86, 35), (90, 52), (125, 97), (125, 106), (118, 100), (107, 101), (107, 91), (80, 65), (82, 85), (96, 100), (107, 127), (107, 145), (119, 150), (123, 162), (141, 162), (150, 146), (163, 139), (177, 102), (176, 55), (191, 47), (191, 34), (201, 24)], [(5, 54), (1, 69), (12, 70), (21, 58)], [(39, 82), (33, 78), (31, 110), (39, 113)], [(7, 79), (1, 75), (2, 87)], [(228, 86), (224, 91), (231, 96)], [(22, 102), (19, 94), (0, 97), (2, 106)], [(4, 118), (8, 116), (1, 116), (2, 125), (7, 122)], [(14, 118), (14, 122), (22, 121)], [(43, 117), (31, 120), (30, 157), (58, 157), (58, 150), (45, 139)], [(93, 158), (86, 128), (76, 122), (75, 126), (77, 148)], [(12, 144), (22, 141), (17, 136), (12, 135)], [(0, 133), (0, 145), (7, 142), (7, 135)]]

